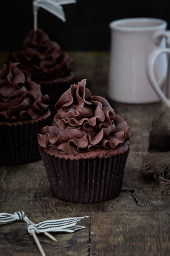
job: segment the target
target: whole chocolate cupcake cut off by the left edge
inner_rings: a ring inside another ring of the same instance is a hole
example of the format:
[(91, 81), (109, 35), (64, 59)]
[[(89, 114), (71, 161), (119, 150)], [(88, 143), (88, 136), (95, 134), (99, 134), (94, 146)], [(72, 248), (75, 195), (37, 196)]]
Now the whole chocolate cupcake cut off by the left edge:
[(0, 165), (19, 165), (40, 157), (37, 134), (52, 122), (49, 96), (26, 78), (18, 63), (0, 70)]

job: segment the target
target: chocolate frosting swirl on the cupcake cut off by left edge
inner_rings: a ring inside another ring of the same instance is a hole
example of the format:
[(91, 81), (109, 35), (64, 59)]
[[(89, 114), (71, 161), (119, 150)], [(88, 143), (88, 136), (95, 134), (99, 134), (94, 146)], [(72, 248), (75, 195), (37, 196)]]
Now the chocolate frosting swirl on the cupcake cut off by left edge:
[(16, 122), (37, 119), (47, 113), (49, 96), (25, 77), (18, 63), (0, 69), (0, 121)]

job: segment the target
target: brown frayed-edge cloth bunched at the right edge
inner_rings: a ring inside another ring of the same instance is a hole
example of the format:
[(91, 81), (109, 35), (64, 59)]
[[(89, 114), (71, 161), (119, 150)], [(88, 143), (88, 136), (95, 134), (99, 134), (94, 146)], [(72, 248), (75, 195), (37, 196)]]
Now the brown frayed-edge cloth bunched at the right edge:
[(170, 108), (162, 106), (152, 121), (148, 154), (139, 175), (154, 177), (160, 193), (170, 195)]

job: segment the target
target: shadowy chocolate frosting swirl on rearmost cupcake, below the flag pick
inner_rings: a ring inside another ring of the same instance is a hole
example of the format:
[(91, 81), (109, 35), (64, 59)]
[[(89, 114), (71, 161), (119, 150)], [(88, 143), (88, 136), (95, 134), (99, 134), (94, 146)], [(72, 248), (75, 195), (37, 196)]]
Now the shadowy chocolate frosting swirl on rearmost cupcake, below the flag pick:
[(31, 30), (22, 44), (22, 50), (13, 53), (10, 61), (20, 62), (20, 68), (33, 81), (49, 81), (69, 76), (72, 60), (61, 47), (50, 40), (42, 30)]

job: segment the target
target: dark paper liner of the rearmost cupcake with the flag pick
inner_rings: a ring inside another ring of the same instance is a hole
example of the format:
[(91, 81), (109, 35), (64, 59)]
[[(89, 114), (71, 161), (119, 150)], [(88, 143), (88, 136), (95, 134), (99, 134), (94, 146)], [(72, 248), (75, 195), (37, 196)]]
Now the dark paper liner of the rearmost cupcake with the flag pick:
[(60, 79), (58, 82), (52, 83), (51, 81), (48, 83), (40, 82), (41, 85), (41, 93), (48, 94), (50, 97), (50, 111), (52, 111), (52, 115), (56, 113), (55, 104), (58, 102), (59, 98), (61, 98), (62, 94), (70, 88), (71, 84), (74, 81), (74, 75), (65, 77)]

